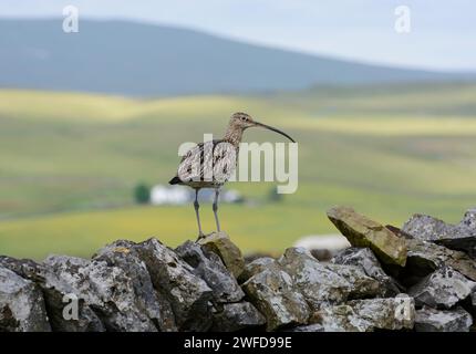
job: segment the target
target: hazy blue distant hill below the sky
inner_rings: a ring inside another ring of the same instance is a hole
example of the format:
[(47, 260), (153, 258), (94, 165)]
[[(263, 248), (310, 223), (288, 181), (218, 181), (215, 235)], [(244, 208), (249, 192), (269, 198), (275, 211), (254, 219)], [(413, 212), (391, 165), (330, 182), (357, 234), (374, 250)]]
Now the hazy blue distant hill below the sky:
[[(365, 65), (123, 21), (0, 20), (0, 86), (125, 95), (180, 95), (465, 80)], [(475, 75), (472, 76), (475, 79)]]

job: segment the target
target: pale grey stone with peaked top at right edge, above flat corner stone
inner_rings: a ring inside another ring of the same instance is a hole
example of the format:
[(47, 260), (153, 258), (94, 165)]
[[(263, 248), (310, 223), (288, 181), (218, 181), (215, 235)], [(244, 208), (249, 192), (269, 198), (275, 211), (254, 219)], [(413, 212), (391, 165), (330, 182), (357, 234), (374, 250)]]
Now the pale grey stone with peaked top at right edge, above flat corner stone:
[(468, 298), (476, 282), (466, 279), (451, 267), (443, 267), (408, 289), (417, 305), (449, 309)]

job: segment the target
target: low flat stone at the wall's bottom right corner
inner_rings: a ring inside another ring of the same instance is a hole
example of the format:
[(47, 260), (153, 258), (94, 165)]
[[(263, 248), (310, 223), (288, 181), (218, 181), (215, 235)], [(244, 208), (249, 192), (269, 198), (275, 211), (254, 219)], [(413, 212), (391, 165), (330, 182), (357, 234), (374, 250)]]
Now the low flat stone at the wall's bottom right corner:
[(452, 311), (424, 306), (416, 311), (416, 332), (469, 332), (473, 319), (464, 309)]

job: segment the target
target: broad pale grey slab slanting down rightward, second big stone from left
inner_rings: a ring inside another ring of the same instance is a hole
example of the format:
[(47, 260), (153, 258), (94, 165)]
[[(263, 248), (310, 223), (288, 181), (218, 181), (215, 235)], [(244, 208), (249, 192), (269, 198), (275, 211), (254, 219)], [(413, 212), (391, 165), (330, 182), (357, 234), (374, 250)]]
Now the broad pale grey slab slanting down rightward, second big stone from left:
[(121, 268), (65, 256), (50, 256), (43, 264), (69, 285), (71, 294), (94, 309), (107, 331), (157, 331), (143, 313), (131, 278)]

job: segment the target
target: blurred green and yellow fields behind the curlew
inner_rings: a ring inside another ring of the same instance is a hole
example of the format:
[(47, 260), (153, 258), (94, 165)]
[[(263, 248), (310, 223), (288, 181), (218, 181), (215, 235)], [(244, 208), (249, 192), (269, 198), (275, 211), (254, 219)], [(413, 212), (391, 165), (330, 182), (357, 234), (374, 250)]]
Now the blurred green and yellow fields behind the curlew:
[[(220, 136), (235, 111), (299, 142), (294, 195), (270, 202), (272, 184), (230, 184), (251, 202), (224, 205), (221, 222), (246, 251), (333, 232), (325, 210), (334, 205), (397, 226), (413, 212), (457, 221), (476, 205), (476, 85), (162, 100), (3, 90), (0, 253), (91, 256), (118, 238), (195, 238), (192, 206), (137, 207), (132, 190), (165, 184), (178, 146)], [(246, 140), (281, 137), (249, 131)], [(210, 205), (201, 215), (211, 231)]]

